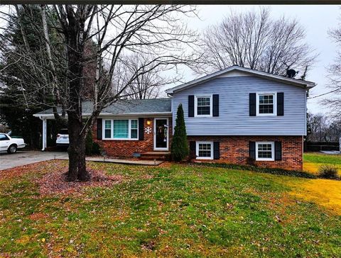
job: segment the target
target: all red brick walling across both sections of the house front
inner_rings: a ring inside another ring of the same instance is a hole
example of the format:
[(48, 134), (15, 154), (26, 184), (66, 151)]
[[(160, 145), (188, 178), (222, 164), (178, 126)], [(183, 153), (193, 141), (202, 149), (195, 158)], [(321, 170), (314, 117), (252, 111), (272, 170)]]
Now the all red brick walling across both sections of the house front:
[[(168, 147), (171, 150), (172, 118), (169, 119)], [(147, 121), (151, 121), (148, 125)], [(92, 135), (109, 157), (132, 157), (134, 152), (153, 151), (154, 118), (144, 118), (144, 128), (150, 127), (152, 132), (144, 132), (144, 140), (97, 140), (97, 125), (94, 125)], [(249, 141), (281, 141), (282, 160), (256, 161), (259, 167), (278, 167), (282, 169), (303, 169), (303, 138), (302, 136), (188, 136), (188, 141), (220, 142), (220, 159), (210, 162), (223, 162), (231, 164), (247, 164), (249, 158)], [(202, 159), (200, 159), (202, 161)]]

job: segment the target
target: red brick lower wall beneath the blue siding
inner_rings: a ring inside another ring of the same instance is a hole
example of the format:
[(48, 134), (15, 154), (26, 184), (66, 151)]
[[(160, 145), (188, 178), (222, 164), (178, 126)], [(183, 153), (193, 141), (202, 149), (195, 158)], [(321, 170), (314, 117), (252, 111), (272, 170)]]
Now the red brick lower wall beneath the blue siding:
[(259, 167), (276, 167), (291, 170), (303, 169), (302, 136), (188, 136), (188, 140), (220, 142), (220, 159), (210, 160), (210, 162), (231, 164), (247, 164), (249, 141), (281, 141), (282, 160), (256, 161), (255, 164)]

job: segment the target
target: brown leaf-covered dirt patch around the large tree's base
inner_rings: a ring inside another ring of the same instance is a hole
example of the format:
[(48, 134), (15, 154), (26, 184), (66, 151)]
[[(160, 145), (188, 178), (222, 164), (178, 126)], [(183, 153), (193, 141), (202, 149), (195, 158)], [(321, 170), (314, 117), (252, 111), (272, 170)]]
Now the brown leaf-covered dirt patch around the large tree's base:
[(124, 180), (124, 176), (107, 176), (104, 172), (89, 169), (89, 181), (67, 181), (67, 172), (64, 169), (45, 174), (42, 178), (36, 180), (41, 195), (55, 194), (81, 194), (87, 187), (109, 187), (113, 184), (119, 184)]

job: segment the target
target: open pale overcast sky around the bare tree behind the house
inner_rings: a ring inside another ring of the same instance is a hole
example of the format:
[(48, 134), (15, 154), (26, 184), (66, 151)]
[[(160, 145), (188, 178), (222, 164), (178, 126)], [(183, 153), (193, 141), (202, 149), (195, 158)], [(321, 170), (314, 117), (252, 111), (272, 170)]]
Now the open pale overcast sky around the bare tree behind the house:
[[(339, 6), (298, 6), (298, 5), (276, 5), (269, 6), (271, 16), (279, 18), (281, 16), (296, 18), (299, 23), (305, 28), (306, 42), (315, 48), (316, 52), (320, 55), (315, 67), (310, 70), (308, 76), (305, 78), (308, 81), (318, 84), (314, 89), (310, 90), (310, 96), (316, 96), (328, 91), (326, 84), (328, 80), (325, 79), (327, 73), (326, 67), (336, 57), (337, 45), (328, 36), (328, 30), (335, 28), (339, 23), (338, 18), (341, 15), (341, 9)], [(258, 6), (197, 6), (199, 10), (199, 16), (202, 21), (198, 21), (197, 18), (192, 18), (188, 26), (190, 28), (196, 28), (202, 30), (209, 25), (217, 24), (222, 21), (224, 16), (229, 14), (229, 10), (232, 11), (248, 11), (250, 9), (258, 9)], [(185, 73), (185, 81), (194, 79), (194, 75), (191, 72)], [(308, 110), (313, 113), (325, 112), (328, 110), (323, 108), (320, 99), (323, 97), (308, 100)]]

